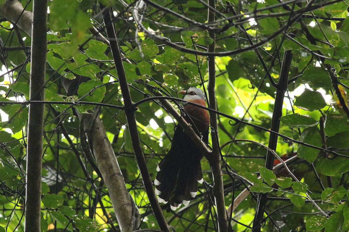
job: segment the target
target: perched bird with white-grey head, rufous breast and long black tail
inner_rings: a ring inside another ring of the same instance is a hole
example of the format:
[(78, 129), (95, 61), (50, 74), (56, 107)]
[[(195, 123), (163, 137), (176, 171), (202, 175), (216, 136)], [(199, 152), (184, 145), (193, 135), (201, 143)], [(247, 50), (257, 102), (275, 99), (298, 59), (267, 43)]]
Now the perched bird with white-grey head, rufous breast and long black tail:
[[(178, 92), (186, 102), (206, 106), (205, 94), (199, 88), (190, 87)], [(195, 133), (208, 144), (209, 114), (207, 110), (183, 103), (182, 117), (191, 125)], [(155, 194), (160, 203), (170, 202), (172, 210), (181, 204), (187, 206), (198, 191), (198, 183), (203, 183), (200, 160), (203, 155), (194, 141), (177, 125), (174, 130), (170, 151), (161, 160), (154, 184)]]

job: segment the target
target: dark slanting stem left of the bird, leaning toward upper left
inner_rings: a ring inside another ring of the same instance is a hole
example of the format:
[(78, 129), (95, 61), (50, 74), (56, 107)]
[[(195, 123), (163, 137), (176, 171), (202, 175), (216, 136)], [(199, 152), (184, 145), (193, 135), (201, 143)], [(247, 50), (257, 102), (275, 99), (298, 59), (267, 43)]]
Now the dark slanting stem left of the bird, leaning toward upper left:
[(159, 227), (163, 231), (170, 231), (168, 224), (165, 221), (164, 215), (162, 214), (160, 205), (156, 199), (156, 195), (153, 189), (153, 183), (151, 182), (149, 171), (147, 169), (146, 160), (144, 159), (143, 150), (140, 145), (135, 111), (136, 107), (132, 102), (131, 95), (128, 89), (128, 83), (126, 80), (124, 66), (122, 65), (121, 52), (119, 47), (119, 42), (117, 39), (117, 35), (115, 29), (113, 27), (113, 22), (111, 19), (110, 8), (101, 6), (101, 10), (103, 11), (103, 20), (105, 24), (105, 29), (110, 42), (110, 49), (113, 54), (114, 63), (116, 66), (116, 70), (119, 78), (119, 85), (121, 89), (122, 97), (124, 98), (124, 110), (126, 114), (126, 120), (129, 132), (131, 134), (131, 141), (134, 150), (134, 154), (138, 163), (138, 167), (142, 176), (142, 181), (144, 184), (144, 188), (147, 192), (149, 202), (151, 208), (153, 209), (154, 216), (159, 224)]

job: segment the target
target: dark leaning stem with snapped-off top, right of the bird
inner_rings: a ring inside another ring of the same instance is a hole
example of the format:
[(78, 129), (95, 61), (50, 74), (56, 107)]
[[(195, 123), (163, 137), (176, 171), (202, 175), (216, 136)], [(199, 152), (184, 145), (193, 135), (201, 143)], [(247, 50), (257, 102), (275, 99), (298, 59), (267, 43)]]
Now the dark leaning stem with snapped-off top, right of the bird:
[[(292, 61), (291, 50), (286, 50), (283, 56), (282, 67), (280, 72), (279, 82), (276, 87), (276, 96), (274, 103), (273, 119), (270, 130), (279, 132), (280, 118), (282, 116), (282, 105), (285, 97), (285, 92), (287, 90), (288, 72), (290, 70)], [(276, 150), (277, 145), (277, 135), (275, 133), (270, 134), (268, 147), (273, 151)], [(267, 158), (265, 161), (265, 167), (269, 170), (273, 170), (274, 165), (274, 155), (268, 150)], [(261, 225), (264, 223), (263, 214), (265, 205), (267, 203), (268, 193), (260, 193), (258, 195), (256, 213), (253, 220), (252, 231), (259, 232), (261, 230)]]

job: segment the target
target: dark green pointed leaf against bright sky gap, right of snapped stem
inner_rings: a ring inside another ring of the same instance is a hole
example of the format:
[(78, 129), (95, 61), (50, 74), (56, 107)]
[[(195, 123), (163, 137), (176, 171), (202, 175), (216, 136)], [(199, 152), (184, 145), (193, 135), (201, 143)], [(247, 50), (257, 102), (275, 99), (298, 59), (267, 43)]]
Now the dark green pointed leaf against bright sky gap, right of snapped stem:
[(321, 93), (305, 89), (300, 96), (296, 97), (295, 106), (303, 110), (314, 111), (324, 108), (326, 102)]

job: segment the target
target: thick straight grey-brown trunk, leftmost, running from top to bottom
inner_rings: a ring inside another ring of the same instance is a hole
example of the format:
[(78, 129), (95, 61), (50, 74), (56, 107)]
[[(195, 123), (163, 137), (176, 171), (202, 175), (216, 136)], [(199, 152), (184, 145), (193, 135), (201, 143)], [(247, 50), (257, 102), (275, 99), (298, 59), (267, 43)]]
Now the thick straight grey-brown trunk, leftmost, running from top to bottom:
[[(45, 100), (47, 0), (33, 1), (30, 101)], [(40, 232), (44, 104), (29, 105), (24, 231)]]

